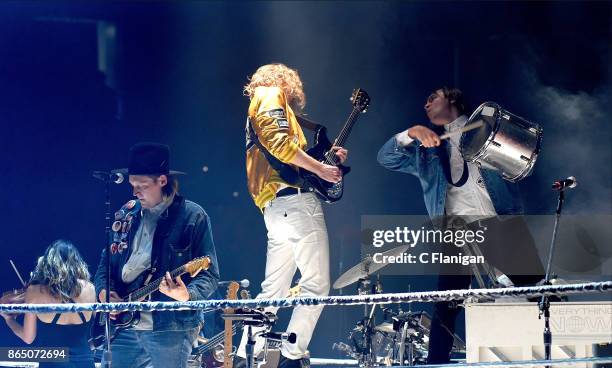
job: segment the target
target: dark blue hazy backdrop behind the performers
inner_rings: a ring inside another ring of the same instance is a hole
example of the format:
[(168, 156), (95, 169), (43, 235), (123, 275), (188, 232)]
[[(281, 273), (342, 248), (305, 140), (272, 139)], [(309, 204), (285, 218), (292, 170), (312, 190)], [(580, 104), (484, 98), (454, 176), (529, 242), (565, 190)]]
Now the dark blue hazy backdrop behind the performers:
[[(269, 62), (299, 70), (306, 112), (331, 135), (350, 111), (353, 88), (372, 97), (347, 144), (353, 172), (344, 199), (326, 206), (332, 281), (359, 261), (361, 215), (425, 214), (418, 181), (386, 171), (376, 153), (391, 135), (425, 122), (425, 98), (442, 85), (463, 89), (474, 108), (496, 101), (544, 128), (536, 170), (521, 183), (530, 214), (552, 213), (550, 183), (575, 175), (581, 184), (567, 213), (610, 215), (610, 8), (584, 1), (0, 3), (3, 290), (19, 286), (9, 259), (27, 275), (57, 238), (77, 244), (94, 273), (105, 245), (104, 188), (91, 171), (124, 167), (130, 145), (160, 141), (171, 146), (171, 165), (189, 173), (181, 192), (212, 219), (222, 278), (249, 278), (257, 294), (266, 232), (246, 191), (242, 86)], [(100, 38), (98, 29), (114, 34)], [(113, 210), (130, 193), (114, 187)], [(383, 281), (385, 291), (434, 287), (422, 277)], [(340, 357), (331, 344), (346, 339), (361, 311), (326, 308), (313, 356)], [(19, 344), (6, 326), (0, 331), (0, 346)]]

